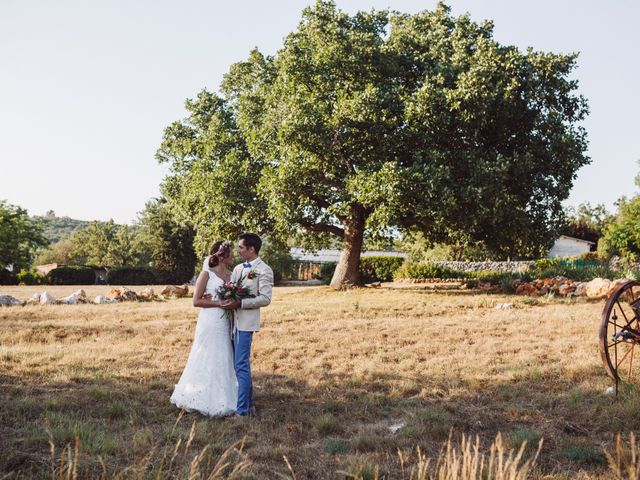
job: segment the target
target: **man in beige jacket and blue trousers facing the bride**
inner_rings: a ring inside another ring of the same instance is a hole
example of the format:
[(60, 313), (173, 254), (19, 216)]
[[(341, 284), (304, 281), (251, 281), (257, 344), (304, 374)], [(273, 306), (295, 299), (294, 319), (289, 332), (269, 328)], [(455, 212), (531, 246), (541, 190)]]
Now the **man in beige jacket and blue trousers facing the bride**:
[(233, 335), (233, 363), (238, 378), (238, 405), (236, 415), (255, 415), (253, 405), (253, 387), (251, 385), (251, 341), (253, 332), (260, 330), (260, 307), (271, 303), (273, 289), (273, 270), (264, 263), (258, 253), (262, 240), (255, 233), (243, 233), (238, 241), (238, 254), (243, 263), (236, 266), (231, 273), (231, 281), (242, 281), (253, 298), (245, 298), (241, 302), (228, 300), (221, 306), (235, 310), (235, 328)]

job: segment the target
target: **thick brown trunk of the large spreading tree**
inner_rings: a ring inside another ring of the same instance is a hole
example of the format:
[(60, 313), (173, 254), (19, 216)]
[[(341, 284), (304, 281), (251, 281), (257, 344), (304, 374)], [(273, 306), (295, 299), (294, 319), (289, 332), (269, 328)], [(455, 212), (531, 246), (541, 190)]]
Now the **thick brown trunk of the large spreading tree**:
[(342, 254), (331, 279), (331, 287), (345, 290), (360, 283), (360, 254), (364, 238), (364, 212), (356, 212), (355, 217), (344, 222)]

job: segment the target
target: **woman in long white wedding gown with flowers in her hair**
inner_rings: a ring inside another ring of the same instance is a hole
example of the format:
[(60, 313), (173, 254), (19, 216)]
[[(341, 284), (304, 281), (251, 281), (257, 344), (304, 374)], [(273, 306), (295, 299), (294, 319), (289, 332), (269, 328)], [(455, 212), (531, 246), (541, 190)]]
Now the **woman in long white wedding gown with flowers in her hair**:
[(205, 259), (193, 293), (201, 307), (191, 353), (175, 386), (171, 403), (187, 412), (220, 417), (235, 413), (238, 382), (233, 368), (231, 325), (220, 308), (216, 290), (231, 279), (233, 252), (229, 242), (216, 242)]

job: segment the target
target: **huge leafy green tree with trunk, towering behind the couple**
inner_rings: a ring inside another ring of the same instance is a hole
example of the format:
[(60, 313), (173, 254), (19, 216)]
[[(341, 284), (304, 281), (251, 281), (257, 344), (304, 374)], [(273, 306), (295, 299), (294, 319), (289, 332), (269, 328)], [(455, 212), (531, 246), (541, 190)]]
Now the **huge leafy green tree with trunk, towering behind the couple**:
[(358, 282), (365, 232), (533, 256), (589, 161), (576, 58), (501, 45), (443, 4), (350, 16), (318, 1), (274, 56), (253, 50), (187, 101), (157, 153), (163, 192), (201, 245), (338, 237), (335, 288)]

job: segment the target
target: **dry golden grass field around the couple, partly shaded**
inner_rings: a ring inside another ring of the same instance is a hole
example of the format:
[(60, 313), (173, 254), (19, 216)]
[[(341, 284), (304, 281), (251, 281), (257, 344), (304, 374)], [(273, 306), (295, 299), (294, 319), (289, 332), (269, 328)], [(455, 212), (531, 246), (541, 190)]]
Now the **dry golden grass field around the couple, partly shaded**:
[[(514, 308), (495, 308), (504, 302)], [(169, 403), (194, 332), (190, 298), (2, 308), (0, 478), (207, 478), (232, 445), (221, 477), (417, 478), (426, 458), (436, 468), (450, 431), (450, 446), (464, 433), (481, 452), (498, 433), (506, 448), (527, 441), (523, 461), (544, 439), (533, 478), (610, 478), (605, 450), (623, 432), (626, 451), (640, 395), (603, 395), (602, 305), (276, 288), (254, 337), (260, 415), (239, 420), (181, 416)]]

